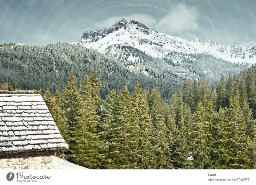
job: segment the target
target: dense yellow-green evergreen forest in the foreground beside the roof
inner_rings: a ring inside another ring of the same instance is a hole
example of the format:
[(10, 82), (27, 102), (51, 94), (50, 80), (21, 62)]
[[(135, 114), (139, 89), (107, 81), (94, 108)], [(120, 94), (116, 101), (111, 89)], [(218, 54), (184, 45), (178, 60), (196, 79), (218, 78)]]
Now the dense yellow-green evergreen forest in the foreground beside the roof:
[[(44, 100), (69, 144), (67, 154), (96, 169), (255, 169), (256, 67), (224, 78), (216, 89), (185, 82), (169, 102), (156, 87), (105, 88), (93, 70), (80, 89), (72, 71), (64, 95)], [(8, 86), (8, 84), (6, 84)], [(9, 88), (12, 88), (10, 85)]]

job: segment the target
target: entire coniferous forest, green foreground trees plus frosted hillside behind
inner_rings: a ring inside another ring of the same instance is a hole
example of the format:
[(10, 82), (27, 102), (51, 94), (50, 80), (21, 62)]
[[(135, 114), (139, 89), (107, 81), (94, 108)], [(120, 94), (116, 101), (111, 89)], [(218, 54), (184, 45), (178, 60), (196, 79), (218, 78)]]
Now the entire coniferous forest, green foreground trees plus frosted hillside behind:
[[(63, 152), (79, 165), (92, 169), (256, 169), (254, 65), (247, 69), (245, 64), (225, 63), (225, 76), (215, 82), (211, 75), (200, 75), (202, 68), (196, 62), (182, 66), (182, 71), (194, 71), (192, 75), (178, 76), (172, 71), (181, 66), (161, 71), (154, 66), (160, 60), (144, 56), (147, 76), (126, 68), (129, 62), (118, 63), (67, 43), (9, 43), (0, 46), (0, 57), (0, 89), (40, 88), (69, 145)], [(209, 66), (222, 63), (208, 60)]]

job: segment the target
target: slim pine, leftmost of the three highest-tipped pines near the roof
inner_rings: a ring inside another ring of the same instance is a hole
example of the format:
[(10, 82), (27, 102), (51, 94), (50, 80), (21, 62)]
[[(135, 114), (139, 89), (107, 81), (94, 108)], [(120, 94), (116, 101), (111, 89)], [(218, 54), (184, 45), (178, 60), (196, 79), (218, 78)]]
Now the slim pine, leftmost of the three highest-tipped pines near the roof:
[(78, 110), (78, 90), (76, 86), (76, 79), (74, 71), (69, 75), (68, 84), (64, 90), (63, 108), (69, 125), (69, 130), (73, 131), (76, 126), (76, 117)]

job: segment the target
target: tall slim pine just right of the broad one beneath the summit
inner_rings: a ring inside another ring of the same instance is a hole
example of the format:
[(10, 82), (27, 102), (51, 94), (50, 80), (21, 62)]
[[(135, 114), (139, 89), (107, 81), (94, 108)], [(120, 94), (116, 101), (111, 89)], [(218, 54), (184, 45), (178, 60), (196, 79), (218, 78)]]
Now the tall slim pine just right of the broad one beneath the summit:
[(149, 107), (146, 98), (141, 94), (139, 82), (136, 82), (133, 95), (133, 107), (135, 109), (135, 122), (140, 126), (139, 162), (138, 169), (152, 169), (154, 155), (151, 139), (153, 137), (153, 123), (149, 115)]

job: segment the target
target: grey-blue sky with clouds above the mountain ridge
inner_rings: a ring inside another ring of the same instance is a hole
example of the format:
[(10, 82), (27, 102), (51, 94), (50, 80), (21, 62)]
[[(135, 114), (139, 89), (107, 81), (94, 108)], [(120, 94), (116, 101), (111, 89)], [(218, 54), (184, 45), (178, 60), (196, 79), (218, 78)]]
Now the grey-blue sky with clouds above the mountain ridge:
[(0, 43), (73, 42), (122, 18), (182, 37), (256, 43), (256, 0), (0, 0)]

